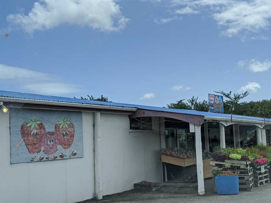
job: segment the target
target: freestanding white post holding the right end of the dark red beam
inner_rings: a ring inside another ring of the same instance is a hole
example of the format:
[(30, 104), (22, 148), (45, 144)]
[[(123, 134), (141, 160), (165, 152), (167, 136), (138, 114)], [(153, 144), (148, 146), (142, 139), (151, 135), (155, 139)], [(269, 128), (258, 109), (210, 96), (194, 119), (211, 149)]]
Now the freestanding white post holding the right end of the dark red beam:
[(197, 177), (198, 177), (198, 194), (204, 195), (204, 177), (203, 177), (203, 161), (202, 161), (202, 146), (200, 126), (195, 125), (195, 140), (196, 140), (196, 160), (197, 160)]

